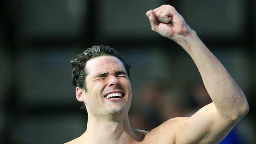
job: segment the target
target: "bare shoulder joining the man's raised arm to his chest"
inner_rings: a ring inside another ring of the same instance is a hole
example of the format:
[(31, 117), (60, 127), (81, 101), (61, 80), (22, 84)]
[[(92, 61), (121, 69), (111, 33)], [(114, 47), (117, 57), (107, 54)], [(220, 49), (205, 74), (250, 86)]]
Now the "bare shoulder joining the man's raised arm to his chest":
[(160, 124), (145, 135), (144, 142), (162, 142), (175, 144), (175, 138), (180, 127), (186, 123), (189, 117), (175, 117)]

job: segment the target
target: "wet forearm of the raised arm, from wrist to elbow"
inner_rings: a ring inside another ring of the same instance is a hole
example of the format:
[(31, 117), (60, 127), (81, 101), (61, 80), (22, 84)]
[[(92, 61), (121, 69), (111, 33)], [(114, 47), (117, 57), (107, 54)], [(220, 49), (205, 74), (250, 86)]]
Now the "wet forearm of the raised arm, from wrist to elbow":
[(217, 110), (229, 120), (238, 120), (249, 110), (247, 100), (226, 68), (197, 37), (194, 31), (175, 41), (192, 57)]

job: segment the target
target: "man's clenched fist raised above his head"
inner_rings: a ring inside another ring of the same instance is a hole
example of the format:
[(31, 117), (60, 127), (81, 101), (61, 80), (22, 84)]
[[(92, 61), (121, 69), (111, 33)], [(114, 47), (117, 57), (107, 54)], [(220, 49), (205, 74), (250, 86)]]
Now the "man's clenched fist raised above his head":
[(187, 36), (192, 31), (184, 18), (171, 5), (162, 5), (149, 10), (146, 15), (153, 31), (174, 41), (179, 36)]

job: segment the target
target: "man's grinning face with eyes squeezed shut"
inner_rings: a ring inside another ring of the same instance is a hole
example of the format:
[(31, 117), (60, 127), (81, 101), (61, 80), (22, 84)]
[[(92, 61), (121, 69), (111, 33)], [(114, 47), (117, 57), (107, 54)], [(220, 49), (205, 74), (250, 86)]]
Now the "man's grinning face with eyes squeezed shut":
[(114, 56), (98, 56), (85, 66), (86, 88), (84, 103), (88, 113), (103, 116), (128, 112), (131, 84), (123, 63)]

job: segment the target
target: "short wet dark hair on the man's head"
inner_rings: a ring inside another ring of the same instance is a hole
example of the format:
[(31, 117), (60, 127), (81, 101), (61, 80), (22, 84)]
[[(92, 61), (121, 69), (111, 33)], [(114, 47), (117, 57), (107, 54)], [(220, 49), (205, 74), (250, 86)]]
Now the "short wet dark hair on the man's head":
[[(128, 78), (130, 79), (130, 65), (126, 63), (126, 61), (117, 50), (109, 46), (92, 46), (91, 48), (86, 49), (81, 54), (78, 54), (76, 57), (74, 57), (74, 59), (70, 61), (73, 67), (73, 85), (87, 91), (85, 83), (85, 78), (88, 75), (88, 73), (86, 73), (85, 71), (85, 65), (87, 61), (98, 56), (106, 55), (115, 56), (116, 58), (118, 58), (123, 63), (123, 66), (126, 68)], [(85, 108), (85, 105), (83, 104), (81, 108)]]

